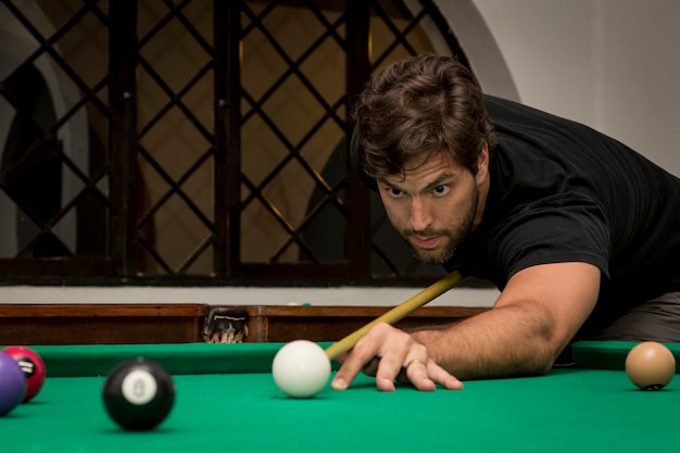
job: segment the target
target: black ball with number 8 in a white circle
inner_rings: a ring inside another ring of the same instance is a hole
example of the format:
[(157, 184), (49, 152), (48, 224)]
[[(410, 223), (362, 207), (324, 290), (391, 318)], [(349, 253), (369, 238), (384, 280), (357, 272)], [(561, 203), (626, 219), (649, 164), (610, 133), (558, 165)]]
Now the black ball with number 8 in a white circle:
[(109, 373), (102, 397), (113, 420), (125, 429), (143, 431), (153, 429), (171, 413), (175, 383), (161, 364), (137, 357)]

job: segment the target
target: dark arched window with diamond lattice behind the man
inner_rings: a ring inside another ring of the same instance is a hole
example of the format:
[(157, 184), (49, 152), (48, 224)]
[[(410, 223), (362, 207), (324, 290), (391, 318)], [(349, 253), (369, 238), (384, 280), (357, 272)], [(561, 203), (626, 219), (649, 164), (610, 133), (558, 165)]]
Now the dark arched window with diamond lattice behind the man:
[(3, 0), (0, 30), (8, 279), (440, 273), (347, 158), (370, 74), (464, 60), (432, 1)]

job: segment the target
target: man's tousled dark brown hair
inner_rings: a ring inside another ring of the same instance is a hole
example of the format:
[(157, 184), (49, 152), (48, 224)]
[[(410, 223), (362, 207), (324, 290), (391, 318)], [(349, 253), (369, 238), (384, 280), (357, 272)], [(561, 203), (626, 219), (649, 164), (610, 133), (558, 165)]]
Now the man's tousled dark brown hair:
[(454, 58), (421, 54), (385, 67), (353, 110), (356, 159), (369, 178), (404, 174), (406, 163), (446, 151), (477, 174), (483, 143), (496, 144), (481, 88)]

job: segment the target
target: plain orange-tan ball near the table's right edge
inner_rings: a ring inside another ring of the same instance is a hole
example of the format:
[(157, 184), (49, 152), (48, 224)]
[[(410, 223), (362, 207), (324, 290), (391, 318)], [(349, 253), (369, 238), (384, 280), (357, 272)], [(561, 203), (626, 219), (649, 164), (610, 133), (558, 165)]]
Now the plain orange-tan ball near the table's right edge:
[(676, 358), (664, 344), (643, 341), (628, 352), (626, 373), (642, 390), (660, 390), (676, 374)]

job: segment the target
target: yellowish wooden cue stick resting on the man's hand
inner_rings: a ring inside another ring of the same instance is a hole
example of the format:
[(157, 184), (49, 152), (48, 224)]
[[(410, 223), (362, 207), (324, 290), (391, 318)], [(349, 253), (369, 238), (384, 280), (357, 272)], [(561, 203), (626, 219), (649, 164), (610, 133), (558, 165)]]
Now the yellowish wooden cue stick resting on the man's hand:
[(465, 280), (465, 277), (463, 277), (463, 275), (461, 275), (461, 273), (458, 272), (453, 272), (442, 277), (440, 280), (425, 288), (423, 291), (418, 292), (400, 305), (396, 305), (389, 312), (385, 313), (382, 316), (372, 320), (358, 330), (348, 335), (343, 339), (338, 340), (333, 344), (326, 348), (326, 355), (329, 360), (336, 358), (341, 353), (354, 348), (354, 344), (356, 344), (356, 342), (363, 336), (368, 334), (368, 330), (370, 330), (376, 324), (387, 323), (393, 325), (399, 320), (405, 318), (426, 303), (431, 302), (439, 295), (443, 294), (451, 288), (459, 285), (463, 280)]

